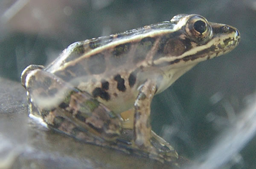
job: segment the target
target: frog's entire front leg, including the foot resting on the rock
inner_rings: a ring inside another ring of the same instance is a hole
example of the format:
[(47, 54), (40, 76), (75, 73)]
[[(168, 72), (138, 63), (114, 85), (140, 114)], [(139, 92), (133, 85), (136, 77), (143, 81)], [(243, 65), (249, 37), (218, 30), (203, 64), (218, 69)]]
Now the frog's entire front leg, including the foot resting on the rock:
[(156, 92), (156, 83), (149, 79), (139, 88), (134, 103), (134, 143), (139, 149), (148, 152), (150, 158), (162, 162), (163, 159), (172, 161), (178, 158), (177, 152), (163, 138), (151, 131), (150, 105)]

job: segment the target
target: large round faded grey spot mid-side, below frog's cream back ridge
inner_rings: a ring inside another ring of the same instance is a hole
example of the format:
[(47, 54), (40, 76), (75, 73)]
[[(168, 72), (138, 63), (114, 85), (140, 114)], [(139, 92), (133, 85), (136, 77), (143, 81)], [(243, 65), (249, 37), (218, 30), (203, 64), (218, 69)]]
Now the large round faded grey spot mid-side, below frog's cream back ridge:
[(101, 53), (92, 55), (88, 58), (87, 66), (91, 74), (101, 74), (105, 72), (106, 63), (104, 55)]

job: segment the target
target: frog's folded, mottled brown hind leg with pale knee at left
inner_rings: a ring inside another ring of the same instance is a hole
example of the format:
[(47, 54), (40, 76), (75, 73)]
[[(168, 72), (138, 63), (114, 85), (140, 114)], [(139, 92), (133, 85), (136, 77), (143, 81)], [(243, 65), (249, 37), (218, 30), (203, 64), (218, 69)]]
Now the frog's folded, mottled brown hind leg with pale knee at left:
[(30, 114), (41, 117), (49, 128), (98, 145), (120, 134), (119, 117), (54, 74), (32, 68), (24, 73), (22, 81)]

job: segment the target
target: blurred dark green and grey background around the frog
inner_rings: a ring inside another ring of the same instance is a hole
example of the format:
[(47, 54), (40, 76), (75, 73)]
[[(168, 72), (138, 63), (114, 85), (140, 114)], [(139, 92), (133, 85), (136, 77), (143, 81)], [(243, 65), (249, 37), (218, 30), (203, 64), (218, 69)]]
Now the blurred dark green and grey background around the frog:
[[(256, 106), (255, 0), (1, 0), (0, 76), (20, 81), (26, 66), (49, 64), (73, 42), (170, 20), (181, 13), (234, 26), (241, 41), (229, 54), (198, 64), (154, 97), (152, 129), (198, 165), (215, 151), (226, 159), (221, 155), (227, 147), (221, 146), (237, 139), (239, 144), (230, 146), (234, 152), (219, 166), (256, 168), (256, 127), (247, 121), (256, 120), (252, 109)], [(241, 132), (238, 125), (244, 124), (248, 128)], [(218, 160), (213, 162), (217, 168)]]

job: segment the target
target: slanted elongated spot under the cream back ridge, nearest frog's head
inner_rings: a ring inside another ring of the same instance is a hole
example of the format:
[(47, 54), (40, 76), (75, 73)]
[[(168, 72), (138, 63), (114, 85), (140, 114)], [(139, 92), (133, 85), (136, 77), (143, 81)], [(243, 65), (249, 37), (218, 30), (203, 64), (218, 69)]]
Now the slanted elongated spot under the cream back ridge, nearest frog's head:
[(154, 45), (155, 38), (154, 37), (145, 37), (136, 46), (136, 51), (134, 53), (134, 63), (142, 61), (148, 54), (148, 51)]

